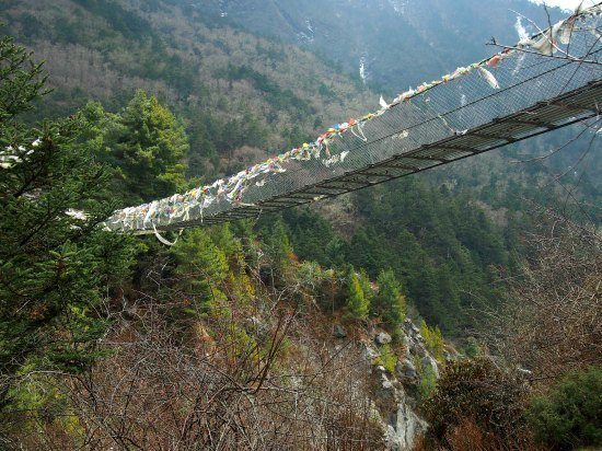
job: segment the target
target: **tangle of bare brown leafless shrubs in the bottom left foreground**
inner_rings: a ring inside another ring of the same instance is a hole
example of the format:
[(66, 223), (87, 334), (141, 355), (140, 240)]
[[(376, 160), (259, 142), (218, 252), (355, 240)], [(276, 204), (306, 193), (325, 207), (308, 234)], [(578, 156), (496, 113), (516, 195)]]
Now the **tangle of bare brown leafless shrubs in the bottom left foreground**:
[(161, 294), (140, 296), (117, 315), (100, 345), (107, 356), (90, 372), (50, 378), (62, 419), (35, 413), (37, 430), (18, 433), (21, 447), (383, 448), (360, 346), (335, 348), (328, 322), (288, 301), (299, 299), (294, 286), (259, 288), (246, 308), (228, 292), (228, 311), (198, 317), (182, 313), (189, 297), (173, 280), (150, 276)]

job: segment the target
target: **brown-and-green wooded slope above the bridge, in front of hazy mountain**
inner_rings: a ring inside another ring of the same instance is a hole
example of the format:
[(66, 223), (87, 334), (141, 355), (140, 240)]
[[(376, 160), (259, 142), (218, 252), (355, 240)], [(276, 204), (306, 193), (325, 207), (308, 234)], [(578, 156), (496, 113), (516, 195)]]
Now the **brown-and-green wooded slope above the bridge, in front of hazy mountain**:
[(221, 157), (264, 159), (368, 109), (368, 92), (315, 55), (166, 2), (7, 1), (0, 20), (47, 61), (56, 91), (40, 115), (70, 114), (89, 99), (115, 108), (148, 90), (186, 119), (193, 159), (213, 159), (209, 169), (192, 164), (193, 175), (234, 170)]

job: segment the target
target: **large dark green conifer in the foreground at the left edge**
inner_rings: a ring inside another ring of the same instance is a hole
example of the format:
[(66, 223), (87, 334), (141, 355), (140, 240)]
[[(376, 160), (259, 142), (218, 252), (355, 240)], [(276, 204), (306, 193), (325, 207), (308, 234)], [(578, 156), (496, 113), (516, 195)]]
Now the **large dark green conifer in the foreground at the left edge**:
[(0, 408), (25, 367), (88, 368), (106, 329), (97, 307), (131, 263), (129, 240), (97, 227), (114, 205), (99, 201), (107, 172), (82, 142), (85, 120), (22, 119), (45, 80), (0, 39)]

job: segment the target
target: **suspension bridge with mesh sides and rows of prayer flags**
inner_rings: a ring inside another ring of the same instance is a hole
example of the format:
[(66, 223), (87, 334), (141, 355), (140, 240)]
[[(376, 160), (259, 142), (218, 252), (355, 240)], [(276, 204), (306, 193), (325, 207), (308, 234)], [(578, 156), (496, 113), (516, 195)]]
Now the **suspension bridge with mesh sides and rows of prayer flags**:
[(602, 3), (490, 58), (400, 94), (314, 142), (211, 185), (116, 211), (158, 233), (300, 206), (474, 157), (599, 115)]

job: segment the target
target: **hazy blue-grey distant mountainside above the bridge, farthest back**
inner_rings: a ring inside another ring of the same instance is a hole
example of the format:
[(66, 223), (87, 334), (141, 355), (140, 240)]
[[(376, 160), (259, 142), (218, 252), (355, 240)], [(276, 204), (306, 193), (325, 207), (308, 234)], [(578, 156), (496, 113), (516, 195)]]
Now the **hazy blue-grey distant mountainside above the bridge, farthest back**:
[[(208, 0), (196, 8), (296, 42), (397, 93), (484, 58), (491, 36), (512, 44), (519, 11), (542, 26), (542, 8), (526, 0)], [(552, 11), (552, 20), (560, 12)], [(529, 24), (525, 22), (525, 25)]]

